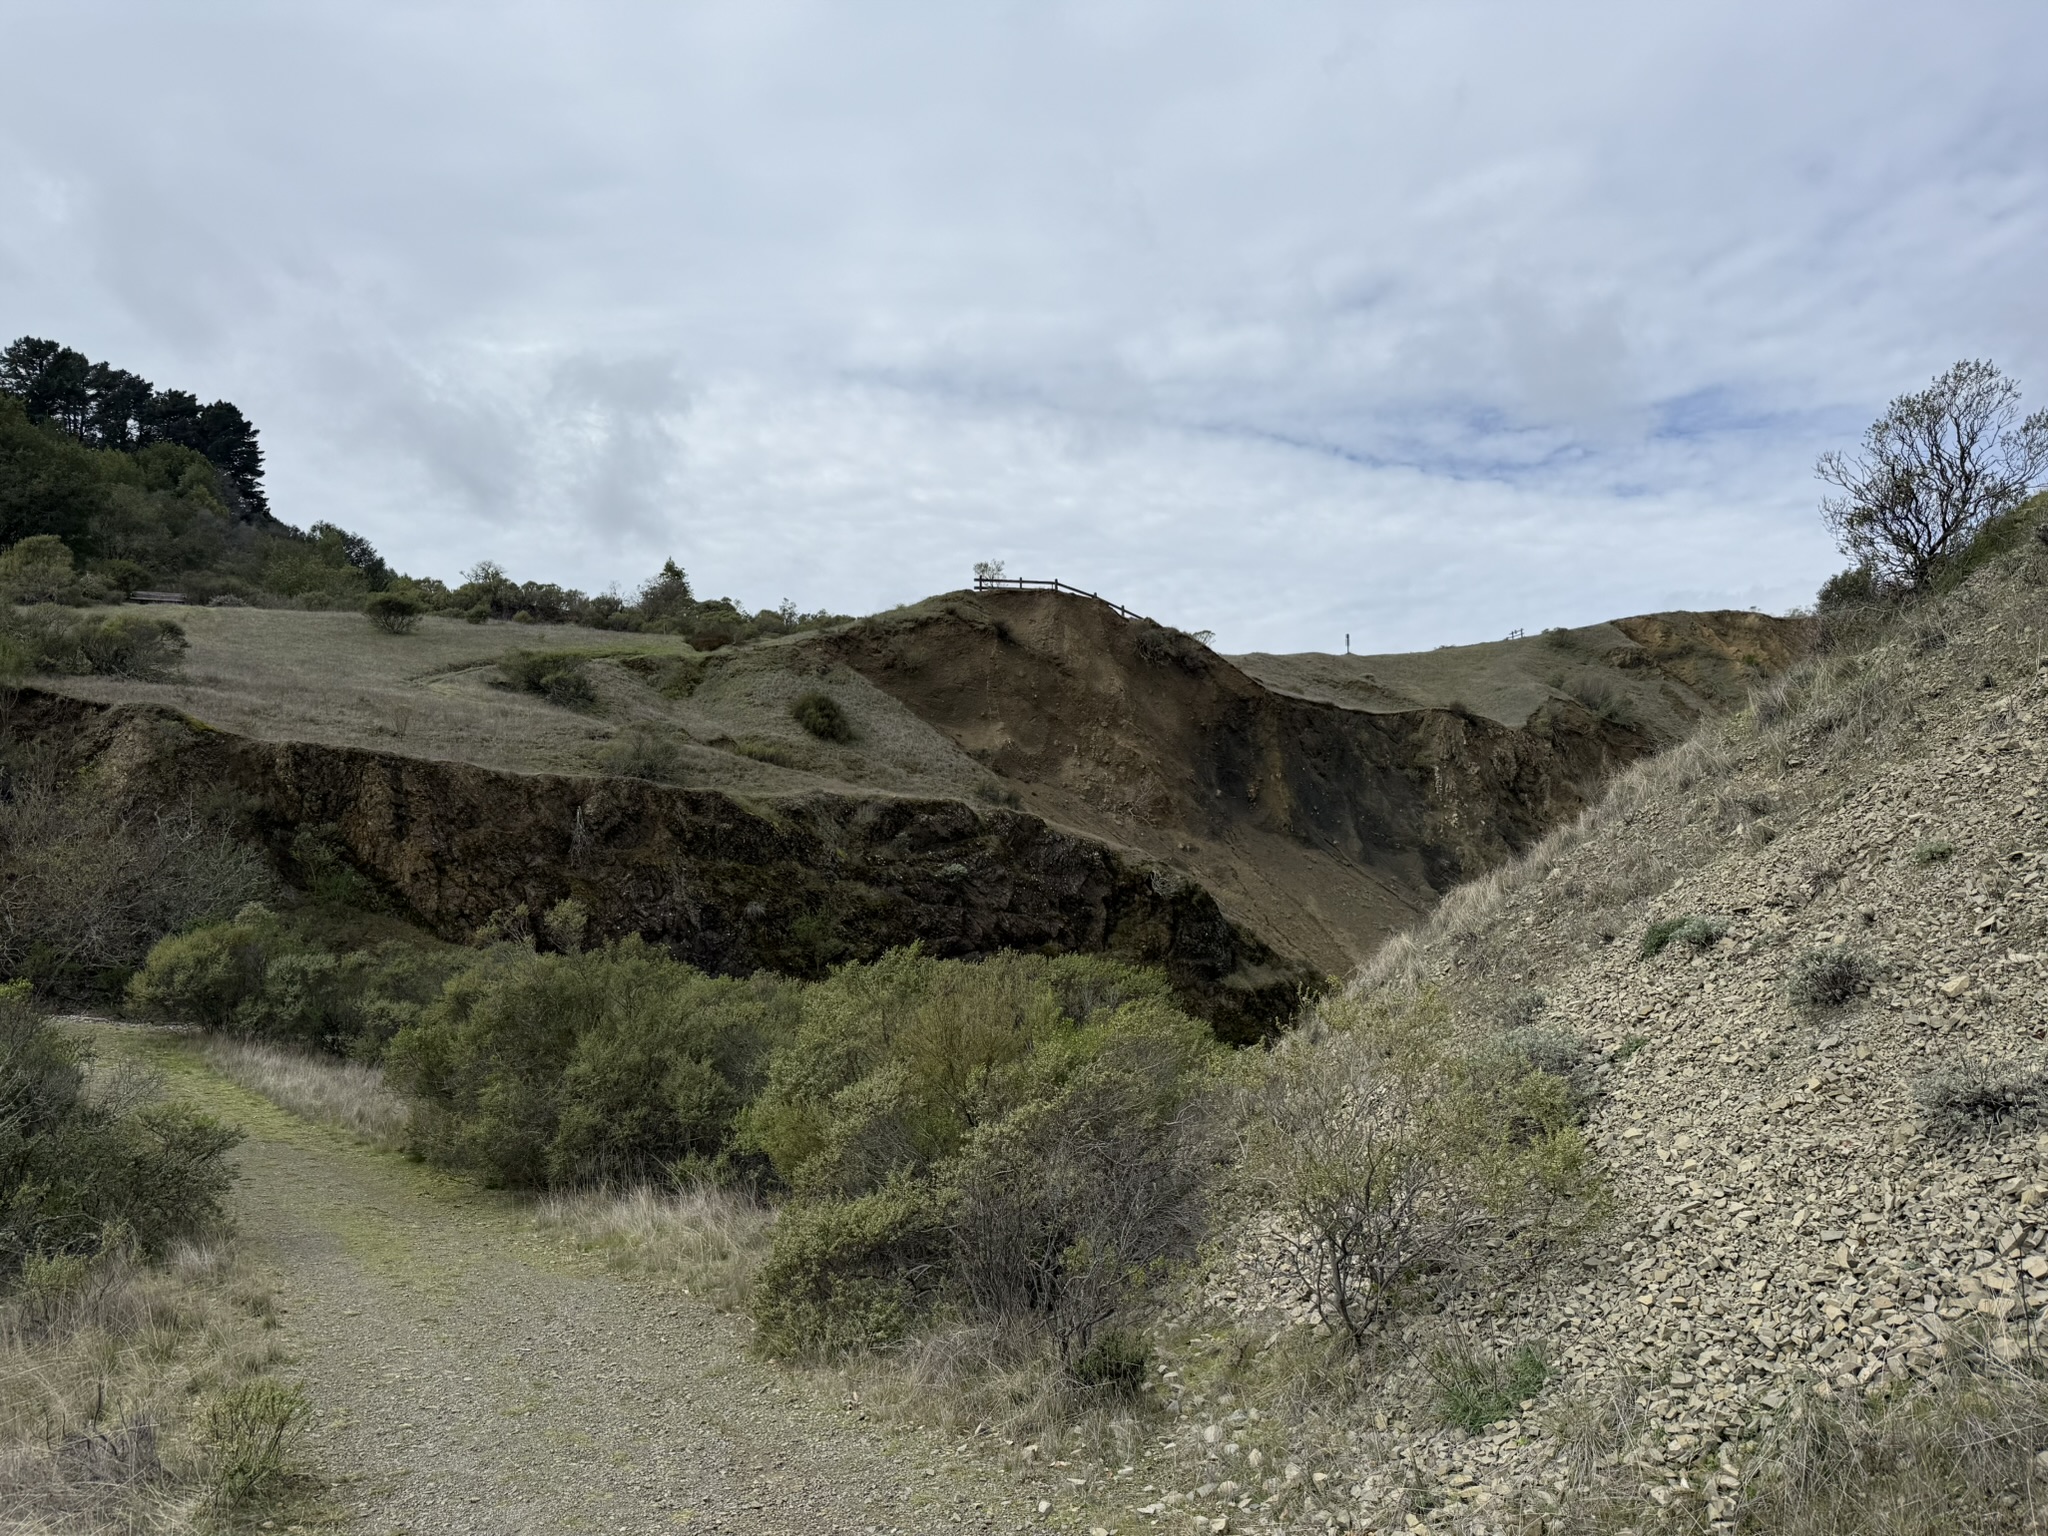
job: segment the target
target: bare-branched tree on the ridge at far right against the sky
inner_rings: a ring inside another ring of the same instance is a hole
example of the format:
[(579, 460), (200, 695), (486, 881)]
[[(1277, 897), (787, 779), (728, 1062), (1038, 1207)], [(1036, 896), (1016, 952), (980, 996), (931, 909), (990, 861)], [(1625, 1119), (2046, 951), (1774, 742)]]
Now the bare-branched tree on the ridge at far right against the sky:
[(2048, 412), (2019, 416), (2019, 385), (1962, 360), (1917, 395), (1898, 395), (1853, 455), (1825, 453), (1815, 473), (1841, 494), (1821, 502), (1841, 551), (1880, 584), (1919, 592), (1942, 561), (2048, 469)]

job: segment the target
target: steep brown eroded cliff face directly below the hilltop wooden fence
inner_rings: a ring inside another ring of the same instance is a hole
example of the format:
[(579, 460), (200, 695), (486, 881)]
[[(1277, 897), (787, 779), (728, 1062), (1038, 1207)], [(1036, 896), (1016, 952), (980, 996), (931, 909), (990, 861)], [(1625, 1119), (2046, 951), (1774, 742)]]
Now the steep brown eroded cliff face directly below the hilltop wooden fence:
[(819, 645), (1032, 811), (1188, 870), (1329, 973), (1663, 743), (1569, 698), (1522, 725), (1300, 698), (1186, 635), (1051, 592), (961, 594)]

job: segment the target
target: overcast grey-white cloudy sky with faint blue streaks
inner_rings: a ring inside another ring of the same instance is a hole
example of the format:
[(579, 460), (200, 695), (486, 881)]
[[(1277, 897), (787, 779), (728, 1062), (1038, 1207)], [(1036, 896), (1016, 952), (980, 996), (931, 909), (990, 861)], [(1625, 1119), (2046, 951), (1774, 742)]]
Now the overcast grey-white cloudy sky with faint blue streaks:
[(1812, 459), (2048, 403), (2040, 0), (0, 0), (0, 330), (444, 580), (1221, 649), (1784, 610)]

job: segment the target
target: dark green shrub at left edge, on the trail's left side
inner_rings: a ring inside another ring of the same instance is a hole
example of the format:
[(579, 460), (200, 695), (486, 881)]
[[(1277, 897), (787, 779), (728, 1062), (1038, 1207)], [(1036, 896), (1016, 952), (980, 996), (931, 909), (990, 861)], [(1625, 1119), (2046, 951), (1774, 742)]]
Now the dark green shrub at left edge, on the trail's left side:
[(217, 1227), (242, 1139), (154, 1092), (102, 1092), (27, 983), (0, 987), (0, 1288), (37, 1255), (162, 1255)]

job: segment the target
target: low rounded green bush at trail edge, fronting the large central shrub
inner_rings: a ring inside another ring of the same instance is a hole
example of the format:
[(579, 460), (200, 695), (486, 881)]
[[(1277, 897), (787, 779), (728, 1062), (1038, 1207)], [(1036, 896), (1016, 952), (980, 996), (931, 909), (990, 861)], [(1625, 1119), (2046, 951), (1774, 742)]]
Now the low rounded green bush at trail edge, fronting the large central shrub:
[(754, 1284), (756, 1346), (801, 1360), (895, 1343), (930, 1300), (940, 1251), (934, 1198), (907, 1178), (791, 1202)]

